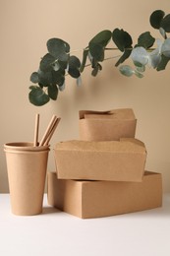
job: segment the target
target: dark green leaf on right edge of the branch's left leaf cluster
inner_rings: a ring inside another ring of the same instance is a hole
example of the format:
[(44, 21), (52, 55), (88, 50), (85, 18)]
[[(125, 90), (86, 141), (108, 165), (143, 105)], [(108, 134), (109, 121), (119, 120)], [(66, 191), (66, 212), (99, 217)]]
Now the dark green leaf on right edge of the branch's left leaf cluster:
[(69, 58), (69, 70), (68, 70), (69, 75), (73, 78), (79, 78), (81, 75), (79, 70), (80, 67), (81, 67), (80, 59), (74, 55), (71, 56)]

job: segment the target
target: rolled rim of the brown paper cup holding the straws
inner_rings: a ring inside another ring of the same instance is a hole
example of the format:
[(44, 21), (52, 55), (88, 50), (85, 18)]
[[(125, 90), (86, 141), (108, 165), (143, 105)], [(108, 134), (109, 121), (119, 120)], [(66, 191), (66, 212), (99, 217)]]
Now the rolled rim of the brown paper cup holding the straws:
[(30, 152), (39, 152), (39, 151), (48, 151), (49, 145), (45, 146), (36, 146), (33, 147), (32, 142), (12, 142), (4, 144), (5, 151), (30, 151)]

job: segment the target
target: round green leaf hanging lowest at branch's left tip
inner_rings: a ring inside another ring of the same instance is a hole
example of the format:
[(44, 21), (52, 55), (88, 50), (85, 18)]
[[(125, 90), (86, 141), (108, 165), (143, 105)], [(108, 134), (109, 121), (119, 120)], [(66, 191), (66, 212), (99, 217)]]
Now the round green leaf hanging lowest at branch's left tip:
[(49, 101), (49, 96), (47, 96), (44, 91), (39, 87), (30, 87), (30, 92), (28, 94), (28, 99), (33, 105), (44, 105)]

